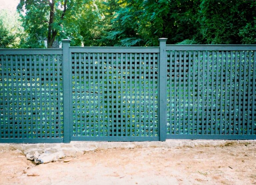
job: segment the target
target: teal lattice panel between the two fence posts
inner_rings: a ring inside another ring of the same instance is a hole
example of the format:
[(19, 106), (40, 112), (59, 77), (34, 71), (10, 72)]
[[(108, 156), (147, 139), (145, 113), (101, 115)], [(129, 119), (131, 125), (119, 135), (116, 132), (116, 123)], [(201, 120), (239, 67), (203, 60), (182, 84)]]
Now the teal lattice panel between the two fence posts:
[(158, 136), (157, 53), (72, 53), (73, 136)]

